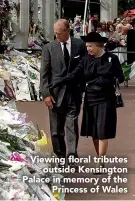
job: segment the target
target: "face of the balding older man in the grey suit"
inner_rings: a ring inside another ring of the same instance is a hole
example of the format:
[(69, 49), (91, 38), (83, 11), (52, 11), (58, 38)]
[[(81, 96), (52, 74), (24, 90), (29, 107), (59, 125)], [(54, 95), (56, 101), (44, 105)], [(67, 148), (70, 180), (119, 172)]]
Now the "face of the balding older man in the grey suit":
[(54, 25), (54, 33), (59, 42), (66, 42), (69, 38), (70, 30), (63, 25)]

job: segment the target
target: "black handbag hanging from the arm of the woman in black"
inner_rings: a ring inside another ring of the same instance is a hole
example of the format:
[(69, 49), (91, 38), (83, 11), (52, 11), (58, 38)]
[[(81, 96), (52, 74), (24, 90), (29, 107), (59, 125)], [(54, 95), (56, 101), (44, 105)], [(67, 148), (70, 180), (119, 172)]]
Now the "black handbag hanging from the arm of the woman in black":
[(124, 101), (120, 92), (119, 80), (116, 79), (115, 84), (116, 108), (124, 107)]

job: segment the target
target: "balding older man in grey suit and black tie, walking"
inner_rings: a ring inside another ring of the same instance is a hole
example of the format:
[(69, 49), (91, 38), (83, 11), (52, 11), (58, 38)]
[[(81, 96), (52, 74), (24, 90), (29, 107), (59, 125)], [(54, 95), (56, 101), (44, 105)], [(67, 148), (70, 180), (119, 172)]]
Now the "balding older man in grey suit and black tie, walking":
[[(44, 102), (49, 108), (54, 153), (58, 157), (70, 155), (77, 157), (81, 86), (71, 84), (71, 86), (57, 87), (51, 91), (48, 85), (54, 84), (72, 72), (87, 50), (81, 39), (70, 37), (70, 26), (67, 20), (58, 20), (54, 25), (54, 32), (56, 40), (45, 45), (42, 52), (40, 88)], [(65, 143), (65, 131), (67, 143)]]

